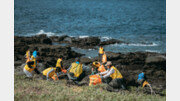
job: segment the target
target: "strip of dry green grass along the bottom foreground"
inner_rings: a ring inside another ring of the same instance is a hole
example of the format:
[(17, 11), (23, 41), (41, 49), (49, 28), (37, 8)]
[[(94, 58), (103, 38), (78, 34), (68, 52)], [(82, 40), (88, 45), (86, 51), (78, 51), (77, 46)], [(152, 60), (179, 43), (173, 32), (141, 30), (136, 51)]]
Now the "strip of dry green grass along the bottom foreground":
[(66, 86), (65, 80), (46, 81), (28, 80), (25, 76), (14, 76), (15, 101), (165, 101), (166, 96), (137, 93), (136, 88), (130, 91), (108, 92), (102, 85)]

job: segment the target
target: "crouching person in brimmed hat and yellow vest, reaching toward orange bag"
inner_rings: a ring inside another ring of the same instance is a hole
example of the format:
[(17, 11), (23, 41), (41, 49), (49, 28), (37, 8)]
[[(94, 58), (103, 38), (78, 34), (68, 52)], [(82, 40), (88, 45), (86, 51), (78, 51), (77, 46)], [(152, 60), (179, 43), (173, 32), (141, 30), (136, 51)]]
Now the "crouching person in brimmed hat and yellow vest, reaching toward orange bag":
[(112, 80), (107, 82), (108, 84), (107, 90), (119, 91), (120, 88), (126, 89), (122, 74), (119, 72), (119, 70), (116, 67), (112, 65), (111, 61), (108, 61), (105, 66), (107, 66), (108, 70), (106, 70), (105, 72), (101, 72), (99, 74), (101, 75), (102, 80), (106, 80), (108, 77), (111, 77)]

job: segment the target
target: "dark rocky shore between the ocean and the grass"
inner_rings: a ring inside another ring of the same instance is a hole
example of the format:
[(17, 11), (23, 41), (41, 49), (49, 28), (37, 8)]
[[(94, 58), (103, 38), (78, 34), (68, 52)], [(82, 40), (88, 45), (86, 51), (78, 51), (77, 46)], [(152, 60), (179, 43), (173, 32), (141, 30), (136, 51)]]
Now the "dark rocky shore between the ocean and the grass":
[[(56, 45), (54, 45), (56, 43)], [(111, 39), (101, 41), (98, 37), (77, 38), (64, 36), (47, 37), (45, 34), (31, 37), (14, 37), (14, 67), (15, 72), (22, 71), (21, 65), (25, 63), (24, 55), (29, 49), (38, 51), (38, 56), (41, 59), (42, 67), (44, 68), (55, 66), (59, 56), (64, 58), (64, 67), (68, 68), (74, 61), (74, 58), (80, 57), (82, 63), (89, 65), (95, 58), (83, 57), (84, 54), (77, 53), (71, 47), (82, 49), (96, 49), (97, 46), (104, 46), (115, 43), (125, 43), (121, 40)], [(66, 44), (62, 46), (61, 44)], [(98, 51), (97, 51), (98, 54)], [(131, 52), (131, 53), (113, 53), (106, 52), (108, 61), (112, 61), (113, 65), (122, 73), (126, 79), (128, 86), (137, 86), (137, 75), (145, 70), (148, 81), (155, 89), (156, 93), (166, 89), (166, 54), (150, 53), (150, 52)]]

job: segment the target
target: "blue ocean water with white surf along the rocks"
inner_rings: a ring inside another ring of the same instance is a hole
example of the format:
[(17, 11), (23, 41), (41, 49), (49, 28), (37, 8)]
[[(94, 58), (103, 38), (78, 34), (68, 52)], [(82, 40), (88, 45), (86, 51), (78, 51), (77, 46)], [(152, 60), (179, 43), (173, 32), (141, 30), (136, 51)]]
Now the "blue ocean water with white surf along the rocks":
[(14, 0), (14, 35), (43, 33), (130, 43), (106, 51), (166, 53), (166, 0)]

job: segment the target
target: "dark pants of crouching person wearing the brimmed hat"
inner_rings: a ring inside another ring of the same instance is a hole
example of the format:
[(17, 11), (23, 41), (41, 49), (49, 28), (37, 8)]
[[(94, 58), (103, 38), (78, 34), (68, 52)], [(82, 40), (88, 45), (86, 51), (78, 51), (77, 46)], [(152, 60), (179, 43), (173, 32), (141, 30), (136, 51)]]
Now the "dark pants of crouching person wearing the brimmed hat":
[(107, 90), (116, 91), (118, 89), (126, 89), (123, 79), (117, 78), (109, 82)]

